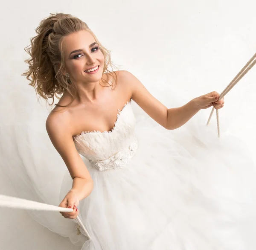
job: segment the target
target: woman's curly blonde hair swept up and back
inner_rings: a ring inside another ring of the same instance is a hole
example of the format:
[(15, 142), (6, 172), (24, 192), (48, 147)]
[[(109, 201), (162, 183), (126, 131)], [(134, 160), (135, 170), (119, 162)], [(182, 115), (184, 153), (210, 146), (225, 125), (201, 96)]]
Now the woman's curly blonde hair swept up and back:
[[(77, 90), (70, 79), (61, 73), (63, 70), (66, 70), (63, 50), (63, 38), (65, 36), (80, 30), (90, 32), (95, 41), (99, 44), (99, 49), (104, 55), (103, 73), (109, 72), (113, 79), (113, 74), (116, 76), (116, 73), (108, 70), (108, 66), (111, 66), (113, 70), (110, 56), (111, 50), (102, 46), (86, 23), (70, 14), (50, 14), (51, 15), (46, 19), (41, 20), (39, 26), (35, 29), (38, 35), (31, 38), (31, 44), (24, 49), (30, 55), (30, 58), (25, 60), (25, 62), (29, 64), (29, 70), (21, 76), (26, 76), (26, 78), (31, 81), (29, 85), (35, 88), (36, 94), (39, 94), (46, 100), (52, 98), (52, 103), (49, 105), (53, 104), (54, 96), (60, 99), (57, 94), (61, 95), (65, 91), (68, 91), (72, 96), (71, 102), (66, 106), (55, 104), (59, 107), (68, 107), (75, 99)], [(29, 77), (31, 77), (31, 79)], [(102, 82), (103, 80), (102, 74)], [(108, 79), (105, 82), (108, 84)], [(113, 85), (112, 82), (111, 85), (108, 84), (109, 86), (106, 87), (112, 86), (113, 89), (113, 87), (116, 87), (116, 84), (117, 76), (115, 84)]]

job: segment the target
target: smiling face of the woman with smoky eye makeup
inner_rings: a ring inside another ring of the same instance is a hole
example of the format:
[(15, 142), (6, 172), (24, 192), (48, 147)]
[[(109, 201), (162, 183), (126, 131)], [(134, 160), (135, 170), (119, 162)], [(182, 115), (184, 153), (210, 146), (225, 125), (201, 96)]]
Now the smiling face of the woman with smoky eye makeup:
[[(102, 78), (104, 55), (88, 31), (81, 30), (65, 37), (63, 48), (66, 73), (70, 74), (72, 82), (98, 82)], [(97, 66), (97, 70), (85, 72)]]

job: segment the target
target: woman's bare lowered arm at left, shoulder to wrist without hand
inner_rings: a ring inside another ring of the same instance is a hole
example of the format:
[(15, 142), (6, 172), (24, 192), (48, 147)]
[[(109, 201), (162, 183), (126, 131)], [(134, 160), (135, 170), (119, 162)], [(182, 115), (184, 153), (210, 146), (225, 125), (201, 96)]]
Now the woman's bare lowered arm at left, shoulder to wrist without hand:
[(73, 179), (70, 192), (73, 192), (81, 201), (92, 192), (93, 180), (76, 150), (68, 123), (63, 115), (50, 114), (46, 120), (46, 130)]

